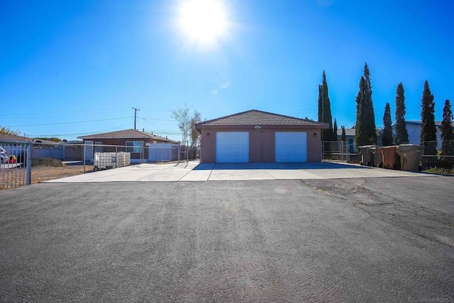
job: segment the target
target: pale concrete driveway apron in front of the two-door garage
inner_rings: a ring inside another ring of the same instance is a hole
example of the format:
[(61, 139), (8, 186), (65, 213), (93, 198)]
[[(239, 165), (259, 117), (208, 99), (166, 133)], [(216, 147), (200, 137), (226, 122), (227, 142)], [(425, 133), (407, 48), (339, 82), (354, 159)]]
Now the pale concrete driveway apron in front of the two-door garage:
[(409, 176), (434, 175), (331, 162), (201, 164), (199, 161), (189, 161), (180, 164), (138, 164), (48, 182), (253, 181)]

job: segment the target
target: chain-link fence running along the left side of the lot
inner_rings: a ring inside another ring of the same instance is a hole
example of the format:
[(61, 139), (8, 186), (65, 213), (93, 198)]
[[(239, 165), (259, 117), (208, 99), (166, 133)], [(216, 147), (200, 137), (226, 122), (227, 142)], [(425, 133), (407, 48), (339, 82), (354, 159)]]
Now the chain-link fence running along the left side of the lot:
[(184, 149), (179, 144), (159, 143), (131, 147), (0, 141), (0, 151), (0, 189), (131, 164), (189, 160), (187, 147)]

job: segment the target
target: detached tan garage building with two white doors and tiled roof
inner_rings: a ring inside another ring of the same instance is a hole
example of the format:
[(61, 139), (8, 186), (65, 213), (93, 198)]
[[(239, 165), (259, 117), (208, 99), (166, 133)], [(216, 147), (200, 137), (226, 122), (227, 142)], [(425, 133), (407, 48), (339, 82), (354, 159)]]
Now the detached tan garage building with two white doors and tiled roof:
[(327, 123), (260, 110), (200, 122), (200, 161), (321, 161), (321, 130), (327, 128)]

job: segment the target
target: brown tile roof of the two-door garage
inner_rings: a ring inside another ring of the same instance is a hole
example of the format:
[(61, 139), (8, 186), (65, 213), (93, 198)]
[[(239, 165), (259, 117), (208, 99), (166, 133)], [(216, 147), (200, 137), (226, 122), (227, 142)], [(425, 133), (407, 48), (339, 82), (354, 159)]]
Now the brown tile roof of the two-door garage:
[[(278, 115), (267, 113), (261, 110), (248, 110), (243, 113), (226, 115), (225, 117), (216, 118), (200, 122), (201, 125), (317, 125), (324, 126), (326, 123), (314, 122), (301, 118), (289, 117), (287, 115)], [(323, 127), (322, 127), (323, 128)]]

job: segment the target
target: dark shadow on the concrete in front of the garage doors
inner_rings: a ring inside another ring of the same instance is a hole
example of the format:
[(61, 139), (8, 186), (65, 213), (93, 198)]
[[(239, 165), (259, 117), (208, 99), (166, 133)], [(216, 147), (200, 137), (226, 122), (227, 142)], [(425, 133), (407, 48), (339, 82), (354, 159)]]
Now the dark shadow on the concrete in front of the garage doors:
[(333, 162), (292, 162), (292, 163), (201, 163), (194, 171), (228, 170), (228, 169), (336, 169), (336, 168), (370, 168), (355, 164)]

